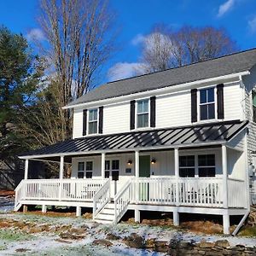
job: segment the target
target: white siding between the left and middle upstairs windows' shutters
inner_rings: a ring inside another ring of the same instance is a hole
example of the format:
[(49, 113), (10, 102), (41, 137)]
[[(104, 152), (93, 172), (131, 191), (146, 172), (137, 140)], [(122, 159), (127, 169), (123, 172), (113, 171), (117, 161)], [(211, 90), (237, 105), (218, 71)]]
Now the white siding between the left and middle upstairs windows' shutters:
[(130, 103), (104, 107), (103, 133), (119, 133), (130, 131)]

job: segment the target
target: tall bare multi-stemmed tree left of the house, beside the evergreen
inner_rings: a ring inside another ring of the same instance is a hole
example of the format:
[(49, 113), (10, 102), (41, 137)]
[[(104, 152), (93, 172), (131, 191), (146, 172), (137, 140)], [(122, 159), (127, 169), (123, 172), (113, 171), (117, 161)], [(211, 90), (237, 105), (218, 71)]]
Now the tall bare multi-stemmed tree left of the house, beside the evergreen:
[[(84, 95), (113, 54), (113, 13), (105, 0), (41, 0), (40, 25), (49, 45), (59, 107)], [(71, 113), (61, 111), (71, 134)]]

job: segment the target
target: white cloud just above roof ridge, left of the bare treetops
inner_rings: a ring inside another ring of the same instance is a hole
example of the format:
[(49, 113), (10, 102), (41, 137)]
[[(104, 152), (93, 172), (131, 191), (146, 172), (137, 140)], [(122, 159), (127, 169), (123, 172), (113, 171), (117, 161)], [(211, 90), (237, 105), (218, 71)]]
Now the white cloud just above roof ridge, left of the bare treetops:
[(108, 79), (115, 81), (119, 79), (127, 79), (138, 73), (142, 63), (139, 62), (118, 62), (108, 70)]

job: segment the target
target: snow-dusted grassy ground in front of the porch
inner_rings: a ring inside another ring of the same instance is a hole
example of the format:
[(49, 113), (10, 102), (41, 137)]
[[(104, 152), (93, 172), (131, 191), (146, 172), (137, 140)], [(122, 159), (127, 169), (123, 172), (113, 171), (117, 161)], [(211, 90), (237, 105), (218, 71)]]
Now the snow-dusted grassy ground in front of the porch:
[[(131, 236), (132, 233), (143, 237), (144, 240), (155, 239), (169, 242), (175, 239), (178, 241), (214, 242), (226, 239), (230, 242), (230, 246), (242, 244), (246, 247), (254, 247), (256, 245), (256, 238), (198, 235), (174, 229), (172, 226), (96, 224), (85, 218), (12, 213), (13, 207), (12, 197), (5, 199), (0, 197), (0, 255), (160, 256), (165, 254), (127, 247), (124, 238)], [(81, 233), (77, 234), (77, 238), (62, 236), (63, 234), (73, 234), (73, 232)], [(94, 245), (94, 241), (105, 240), (108, 234), (119, 236), (119, 239), (111, 240), (111, 245), (108, 247)], [(80, 235), (82, 236), (80, 237)]]

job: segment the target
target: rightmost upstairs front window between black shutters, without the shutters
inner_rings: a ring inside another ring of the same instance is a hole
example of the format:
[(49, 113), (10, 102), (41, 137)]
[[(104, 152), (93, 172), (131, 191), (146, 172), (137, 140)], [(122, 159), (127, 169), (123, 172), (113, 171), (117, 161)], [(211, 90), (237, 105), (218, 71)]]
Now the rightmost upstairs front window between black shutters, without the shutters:
[(200, 90), (200, 119), (215, 119), (214, 87)]

